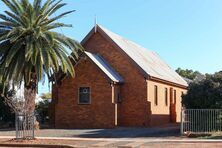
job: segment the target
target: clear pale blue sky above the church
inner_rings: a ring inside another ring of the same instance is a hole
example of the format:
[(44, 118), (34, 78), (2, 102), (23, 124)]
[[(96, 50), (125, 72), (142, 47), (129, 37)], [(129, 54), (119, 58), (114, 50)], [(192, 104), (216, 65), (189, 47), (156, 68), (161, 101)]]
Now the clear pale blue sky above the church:
[[(58, 14), (73, 28), (58, 30), (81, 41), (97, 23), (157, 52), (173, 69), (222, 70), (222, 0), (63, 0)], [(0, 2), (0, 13), (6, 7)], [(39, 85), (39, 93), (48, 84)]]

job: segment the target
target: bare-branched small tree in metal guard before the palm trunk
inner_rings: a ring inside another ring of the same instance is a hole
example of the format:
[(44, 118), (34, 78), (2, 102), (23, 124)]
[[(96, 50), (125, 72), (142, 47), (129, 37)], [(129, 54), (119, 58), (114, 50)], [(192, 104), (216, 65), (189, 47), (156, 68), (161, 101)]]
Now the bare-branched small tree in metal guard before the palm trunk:
[(4, 94), (4, 99), (16, 115), (16, 138), (33, 139), (35, 116), (29, 112), (33, 93), (31, 91), (26, 93), (27, 98), (24, 97), (24, 87), (11, 88), (7, 94)]

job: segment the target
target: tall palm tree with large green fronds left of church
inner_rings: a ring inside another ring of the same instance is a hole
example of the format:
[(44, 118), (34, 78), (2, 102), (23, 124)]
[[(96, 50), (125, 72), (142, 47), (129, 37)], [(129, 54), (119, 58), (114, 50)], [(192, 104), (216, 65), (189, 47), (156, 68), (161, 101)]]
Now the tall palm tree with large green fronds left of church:
[[(58, 20), (73, 11), (55, 13), (66, 4), (62, 0), (2, 0), (9, 8), (0, 14), (0, 72), (3, 84), (24, 84), (24, 98), (33, 96), (27, 110), (34, 111), (37, 84), (57, 72), (74, 76), (73, 62), (83, 51), (75, 40), (55, 29), (71, 27)], [(72, 51), (69, 55), (68, 50)], [(21, 83), (24, 82), (24, 83)], [(35, 95), (30, 95), (35, 94)], [(30, 98), (29, 98), (30, 100)]]

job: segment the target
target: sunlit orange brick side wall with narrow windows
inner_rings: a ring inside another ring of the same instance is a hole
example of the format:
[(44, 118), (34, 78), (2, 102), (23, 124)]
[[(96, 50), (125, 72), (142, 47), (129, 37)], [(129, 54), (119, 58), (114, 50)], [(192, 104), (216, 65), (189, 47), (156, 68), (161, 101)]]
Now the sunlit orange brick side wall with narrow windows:
[[(151, 102), (151, 126), (168, 124), (169, 122), (180, 122), (181, 94), (185, 89), (172, 85), (147, 80), (148, 100)], [(158, 88), (158, 104), (156, 105), (154, 96), (154, 87)], [(165, 104), (165, 89), (167, 89), (167, 104)], [(174, 102), (173, 91), (176, 90), (176, 102)]]

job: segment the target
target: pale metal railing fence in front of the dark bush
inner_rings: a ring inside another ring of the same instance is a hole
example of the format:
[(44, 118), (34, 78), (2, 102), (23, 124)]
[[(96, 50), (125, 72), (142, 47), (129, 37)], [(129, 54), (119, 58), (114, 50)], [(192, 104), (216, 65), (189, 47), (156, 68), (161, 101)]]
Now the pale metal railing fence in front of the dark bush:
[(183, 109), (181, 134), (222, 131), (222, 109)]

